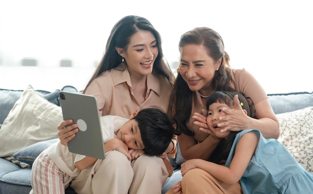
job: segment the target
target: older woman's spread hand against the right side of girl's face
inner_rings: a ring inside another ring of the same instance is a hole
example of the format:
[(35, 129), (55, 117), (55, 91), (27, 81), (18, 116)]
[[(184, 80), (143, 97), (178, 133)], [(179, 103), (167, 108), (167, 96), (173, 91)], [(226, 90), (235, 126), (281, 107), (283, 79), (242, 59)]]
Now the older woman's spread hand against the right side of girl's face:
[(222, 108), (221, 111), (225, 113), (224, 116), (218, 118), (219, 123), (217, 127), (221, 128), (221, 132), (227, 130), (230, 131), (241, 131), (244, 130), (243, 124), (246, 123), (248, 116), (244, 114), (242, 107), (239, 103), (238, 95), (235, 95), (233, 98), (233, 109)]

